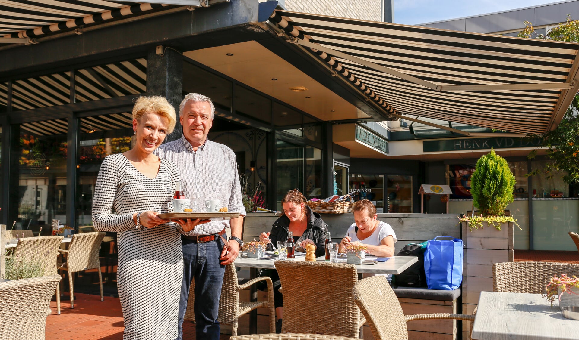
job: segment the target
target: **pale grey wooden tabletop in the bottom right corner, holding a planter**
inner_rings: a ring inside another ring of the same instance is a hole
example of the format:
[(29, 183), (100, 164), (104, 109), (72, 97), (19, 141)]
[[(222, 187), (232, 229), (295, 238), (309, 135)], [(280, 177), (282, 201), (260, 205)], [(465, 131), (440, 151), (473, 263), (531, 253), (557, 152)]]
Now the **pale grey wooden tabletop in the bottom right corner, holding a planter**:
[(481, 292), (472, 325), (477, 340), (579, 340), (579, 320), (563, 317), (559, 301), (540, 294)]

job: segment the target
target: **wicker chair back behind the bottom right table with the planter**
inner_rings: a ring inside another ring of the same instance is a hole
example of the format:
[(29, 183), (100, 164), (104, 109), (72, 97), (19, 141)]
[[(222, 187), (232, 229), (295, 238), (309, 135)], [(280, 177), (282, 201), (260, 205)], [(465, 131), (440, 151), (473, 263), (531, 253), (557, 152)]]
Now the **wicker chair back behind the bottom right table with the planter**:
[(534, 261), (495, 263), (493, 291), (543, 294), (554, 274), (579, 277), (579, 264)]

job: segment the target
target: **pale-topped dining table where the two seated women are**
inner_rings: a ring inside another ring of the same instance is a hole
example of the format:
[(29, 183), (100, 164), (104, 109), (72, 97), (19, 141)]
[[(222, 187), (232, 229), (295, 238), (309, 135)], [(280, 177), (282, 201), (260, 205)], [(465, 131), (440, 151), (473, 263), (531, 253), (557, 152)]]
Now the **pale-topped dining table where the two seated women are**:
[[(304, 261), (306, 259), (303, 255), (297, 255), (296, 261)], [(318, 257), (317, 261), (324, 261), (324, 256)], [(357, 264), (356, 269), (358, 270), (358, 275), (361, 274), (400, 274), (410, 267), (413, 263), (418, 261), (416, 256), (393, 256), (390, 257), (386, 262), (379, 262), (377, 264)], [(248, 267), (250, 268), (250, 279), (257, 277), (257, 268), (268, 268), (274, 269), (275, 260), (271, 259), (255, 259), (251, 257), (237, 257), (235, 260), (235, 266), (237, 267)], [(255, 285), (250, 287), (250, 300), (257, 301), (257, 289)], [(250, 334), (256, 334), (257, 332), (257, 310), (250, 312)]]

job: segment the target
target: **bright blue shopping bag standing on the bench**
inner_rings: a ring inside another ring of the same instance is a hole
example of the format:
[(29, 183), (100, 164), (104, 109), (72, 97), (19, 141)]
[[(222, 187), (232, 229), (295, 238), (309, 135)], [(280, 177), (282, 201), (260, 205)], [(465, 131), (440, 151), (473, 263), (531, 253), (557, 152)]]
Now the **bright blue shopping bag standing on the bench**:
[(427, 241), (424, 251), (424, 272), (428, 289), (453, 290), (463, 281), (463, 240), (438, 240), (449, 238), (437, 236)]

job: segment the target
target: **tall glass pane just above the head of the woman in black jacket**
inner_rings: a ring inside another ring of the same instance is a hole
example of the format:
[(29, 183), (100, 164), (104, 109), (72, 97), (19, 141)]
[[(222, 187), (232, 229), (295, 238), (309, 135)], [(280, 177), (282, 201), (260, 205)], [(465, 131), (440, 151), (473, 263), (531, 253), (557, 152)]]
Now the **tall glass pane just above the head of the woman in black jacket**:
[(281, 199), (289, 190), (298, 188), (303, 193), (303, 147), (277, 140), (276, 149), (277, 210), (283, 210)]

